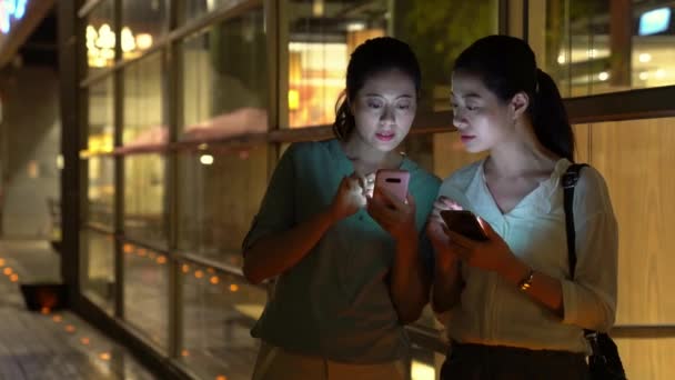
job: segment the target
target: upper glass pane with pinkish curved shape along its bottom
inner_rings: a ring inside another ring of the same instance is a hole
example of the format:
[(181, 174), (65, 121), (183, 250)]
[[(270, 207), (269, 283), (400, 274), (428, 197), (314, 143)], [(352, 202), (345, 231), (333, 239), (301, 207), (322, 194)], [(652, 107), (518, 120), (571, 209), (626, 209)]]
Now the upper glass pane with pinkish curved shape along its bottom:
[(268, 58), (262, 7), (183, 43), (182, 139), (268, 130)]

